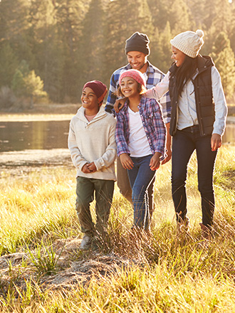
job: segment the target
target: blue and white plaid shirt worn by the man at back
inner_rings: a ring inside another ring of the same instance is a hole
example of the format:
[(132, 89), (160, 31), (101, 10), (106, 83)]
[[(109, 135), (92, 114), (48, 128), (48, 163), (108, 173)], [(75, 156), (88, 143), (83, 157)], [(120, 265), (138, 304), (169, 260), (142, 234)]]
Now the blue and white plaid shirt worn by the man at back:
[[(155, 87), (157, 83), (160, 83), (160, 81), (164, 78), (164, 74), (158, 69), (155, 68), (149, 61), (147, 61), (148, 67), (147, 71), (144, 74), (146, 79), (146, 87), (147, 89), (150, 89), (152, 87)], [(110, 79), (110, 90), (108, 92), (108, 99), (105, 105), (105, 111), (109, 113), (113, 113), (115, 115), (115, 112), (113, 110), (113, 105), (115, 104), (115, 101), (117, 100), (117, 97), (113, 95), (113, 92), (117, 90), (118, 87), (118, 80), (120, 78), (120, 75), (125, 70), (130, 70), (131, 66), (128, 63), (126, 66), (123, 66), (122, 68), (118, 68), (118, 70), (115, 70), (113, 75)], [(167, 92), (160, 100), (160, 103), (162, 105), (162, 112), (163, 112), (163, 118), (164, 122), (167, 124), (170, 122), (170, 113), (171, 113), (171, 103), (169, 99), (169, 92)]]

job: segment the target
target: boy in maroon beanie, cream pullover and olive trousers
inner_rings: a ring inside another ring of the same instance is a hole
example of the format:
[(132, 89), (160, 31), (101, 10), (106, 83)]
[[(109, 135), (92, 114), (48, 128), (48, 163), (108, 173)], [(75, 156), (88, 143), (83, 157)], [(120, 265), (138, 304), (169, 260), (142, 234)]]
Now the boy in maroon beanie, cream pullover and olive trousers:
[[(81, 250), (88, 250), (95, 238), (105, 233), (113, 200), (115, 177), (115, 118), (102, 106), (107, 87), (98, 80), (86, 83), (82, 107), (72, 118), (68, 148), (77, 169), (76, 211), (84, 233)], [(95, 192), (96, 225), (90, 215)]]

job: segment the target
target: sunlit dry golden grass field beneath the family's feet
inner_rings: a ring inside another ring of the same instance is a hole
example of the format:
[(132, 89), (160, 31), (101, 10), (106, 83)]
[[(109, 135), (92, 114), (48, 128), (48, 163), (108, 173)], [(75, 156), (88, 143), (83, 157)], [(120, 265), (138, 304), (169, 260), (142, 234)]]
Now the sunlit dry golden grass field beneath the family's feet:
[(176, 232), (169, 162), (157, 171), (152, 234), (133, 237), (132, 208), (115, 187), (108, 240), (81, 252), (68, 150), (1, 153), (0, 311), (235, 312), (234, 156), (235, 147), (224, 145), (216, 160), (208, 245), (194, 156), (189, 233)]

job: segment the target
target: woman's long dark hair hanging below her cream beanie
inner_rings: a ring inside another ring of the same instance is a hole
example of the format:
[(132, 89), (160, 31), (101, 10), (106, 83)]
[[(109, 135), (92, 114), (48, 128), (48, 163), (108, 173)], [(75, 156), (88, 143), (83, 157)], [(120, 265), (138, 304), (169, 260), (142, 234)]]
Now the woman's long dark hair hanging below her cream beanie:
[(194, 75), (196, 68), (197, 58), (191, 58), (189, 55), (185, 55), (184, 62), (176, 71), (176, 84), (179, 95), (181, 95), (184, 85)]

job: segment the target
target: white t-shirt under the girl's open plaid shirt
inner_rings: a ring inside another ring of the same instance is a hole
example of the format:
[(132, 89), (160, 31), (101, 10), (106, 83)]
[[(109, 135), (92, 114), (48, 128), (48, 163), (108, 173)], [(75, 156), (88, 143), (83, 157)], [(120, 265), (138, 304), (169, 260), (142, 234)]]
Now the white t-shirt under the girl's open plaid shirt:
[(142, 124), (140, 112), (133, 112), (128, 107), (130, 137), (128, 147), (130, 149), (130, 157), (145, 157), (152, 154), (150, 144), (147, 141), (145, 129)]

